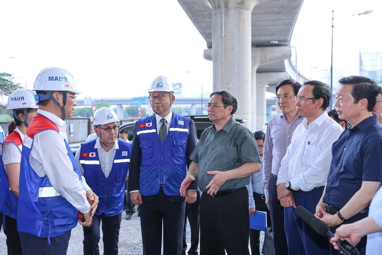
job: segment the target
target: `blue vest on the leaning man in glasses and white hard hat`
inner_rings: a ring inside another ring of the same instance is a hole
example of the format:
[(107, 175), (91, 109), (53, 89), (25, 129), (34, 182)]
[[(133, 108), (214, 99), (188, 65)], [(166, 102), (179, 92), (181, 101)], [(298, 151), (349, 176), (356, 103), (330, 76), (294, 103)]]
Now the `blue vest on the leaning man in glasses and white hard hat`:
[(131, 145), (118, 138), (119, 149), (116, 151), (112, 170), (106, 178), (99, 162), (98, 150), (94, 148), (96, 141), (97, 139), (81, 145), (80, 163), (84, 169), (86, 183), (99, 197), (95, 214), (114, 216), (123, 209)]

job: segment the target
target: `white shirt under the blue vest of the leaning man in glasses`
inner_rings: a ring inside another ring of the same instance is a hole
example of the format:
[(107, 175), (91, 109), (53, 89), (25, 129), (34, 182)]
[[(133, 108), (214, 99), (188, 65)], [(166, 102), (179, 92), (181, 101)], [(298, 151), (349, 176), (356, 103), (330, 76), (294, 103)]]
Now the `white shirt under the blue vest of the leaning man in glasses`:
[[(102, 148), (99, 138), (97, 138), (94, 148), (97, 149), (99, 163), (101, 165), (102, 172), (104, 173), (105, 177), (108, 178), (110, 172), (112, 171), (114, 158), (116, 156), (116, 151), (119, 149), (118, 140), (116, 139), (116, 142), (114, 143), (113, 148), (110, 151), (106, 152)], [(76, 162), (77, 162), (78, 168), (80, 169), (81, 175), (84, 175), (84, 168), (82, 168), (82, 165), (80, 164), (80, 156), (81, 156), (81, 146), (78, 148), (76, 152)]]

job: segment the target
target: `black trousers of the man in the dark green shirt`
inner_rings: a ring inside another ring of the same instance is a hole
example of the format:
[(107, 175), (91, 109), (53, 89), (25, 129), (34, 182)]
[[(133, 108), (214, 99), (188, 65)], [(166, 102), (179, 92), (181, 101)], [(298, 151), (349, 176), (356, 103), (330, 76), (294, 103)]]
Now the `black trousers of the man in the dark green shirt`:
[(200, 198), (200, 255), (249, 255), (248, 190)]

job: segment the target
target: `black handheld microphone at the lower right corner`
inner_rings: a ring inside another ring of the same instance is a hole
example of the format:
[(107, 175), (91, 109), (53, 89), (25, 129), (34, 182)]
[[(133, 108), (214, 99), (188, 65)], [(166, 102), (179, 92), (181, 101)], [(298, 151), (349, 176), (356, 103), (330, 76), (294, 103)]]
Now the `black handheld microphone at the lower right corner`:
[[(316, 218), (316, 216), (314, 216), (301, 205), (296, 207), (296, 214), (298, 214), (302, 220), (308, 223), (320, 235), (328, 235), (329, 237), (334, 236), (334, 234), (329, 231), (329, 226), (326, 223)], [(358, 250), (348, 241), (340, 239), (336, 243), (340, 248), (341, 253), (345, 255), (359, 255)]]

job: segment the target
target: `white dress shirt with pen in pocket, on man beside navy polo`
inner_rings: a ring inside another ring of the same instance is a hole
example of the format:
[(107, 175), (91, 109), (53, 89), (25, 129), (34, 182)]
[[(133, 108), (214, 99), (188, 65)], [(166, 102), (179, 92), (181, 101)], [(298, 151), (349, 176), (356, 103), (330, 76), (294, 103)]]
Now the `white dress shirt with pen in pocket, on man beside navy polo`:
[(295, 191), (324, 186), (331, 162), (331, 147), (343, 128), (326, 111), (309, 124), (304, 119), (294, 130), (287, 154), (281, 160), (277, 184), (291, 182)]

